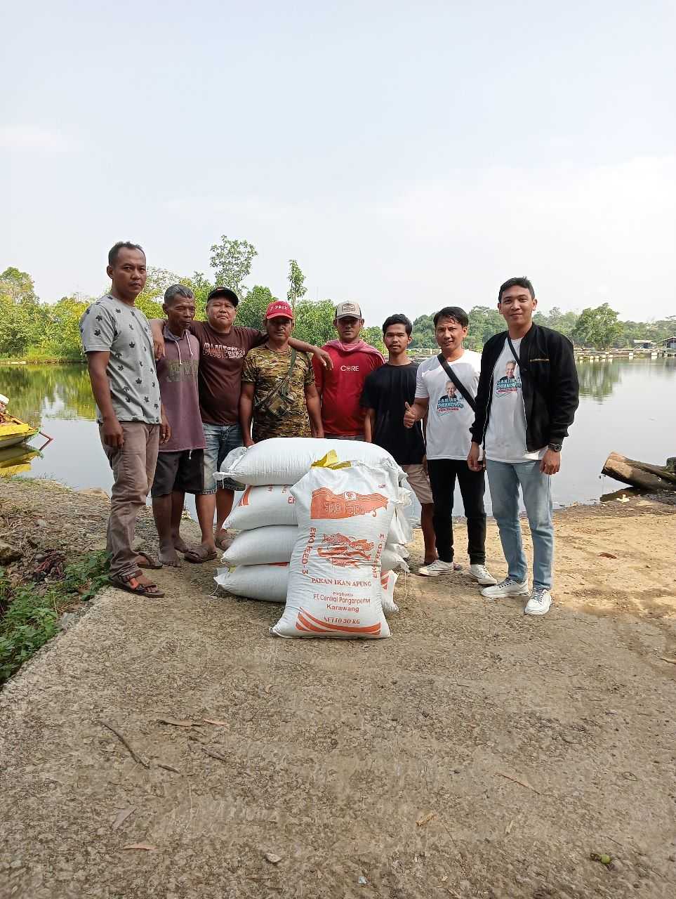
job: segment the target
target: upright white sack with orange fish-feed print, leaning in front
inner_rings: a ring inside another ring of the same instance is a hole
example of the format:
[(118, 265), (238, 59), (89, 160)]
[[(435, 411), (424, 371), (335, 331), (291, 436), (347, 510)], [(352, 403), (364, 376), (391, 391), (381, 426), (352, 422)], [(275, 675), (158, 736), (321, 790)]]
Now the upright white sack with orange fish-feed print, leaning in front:
[(298, 540), (275, 636), (390, 636), (380, 556), (399, 499), (398, 467), (314, 467), (292, 488)]

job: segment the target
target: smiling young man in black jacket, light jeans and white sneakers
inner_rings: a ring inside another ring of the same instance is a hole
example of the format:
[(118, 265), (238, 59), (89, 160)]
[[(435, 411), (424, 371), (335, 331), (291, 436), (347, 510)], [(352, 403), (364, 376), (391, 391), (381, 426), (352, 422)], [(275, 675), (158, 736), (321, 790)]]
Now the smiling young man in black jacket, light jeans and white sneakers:
[[(563, 334), (534, 324), (537, 305), (527, 278), (511, 278), (498, 291), (498, 309), (508, 330), (485, 343), (481, 355), (467, 457), (473, 471), (486, 467), (493, 514), (509, 566), (504, 581), (486, 587), (482, 594), (489, 599), (529, 596), (527, 615), (546, 615), (552, 603), (550, 478), (561, 466), (561, 445), (579, 402), (573, 344)], [(519, 487), (533, 540), (530, 594), (521, 543)]]

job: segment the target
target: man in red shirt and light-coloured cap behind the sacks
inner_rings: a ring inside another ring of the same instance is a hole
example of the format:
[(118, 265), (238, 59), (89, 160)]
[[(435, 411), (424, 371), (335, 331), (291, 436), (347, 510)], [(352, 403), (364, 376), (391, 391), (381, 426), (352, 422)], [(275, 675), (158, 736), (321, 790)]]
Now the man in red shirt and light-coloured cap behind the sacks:
[(379, 369), (385, 360), (375, 346), (361, 340), (363, 325), (356, 303), (339, 303), (334, 317), (338, 340), (330, 340), (322, 347), (331, 356), (334, 368), (328, 371), (314, 357), (312, 360), (322, 403), (324, 436), (334, 440), (363, 441), (370, 426), (366, 410), (360, 405), (361, 390), (371, 371)]

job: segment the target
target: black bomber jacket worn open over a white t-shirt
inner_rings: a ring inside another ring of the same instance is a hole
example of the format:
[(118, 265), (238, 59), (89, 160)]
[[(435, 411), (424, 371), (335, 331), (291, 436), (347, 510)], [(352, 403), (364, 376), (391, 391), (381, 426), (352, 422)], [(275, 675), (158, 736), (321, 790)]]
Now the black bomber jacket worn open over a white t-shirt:
[[(485, 439), (495, 363), (506, 340), (506, 331), (494, 334), (481, 353), (476, 417), (469, 429), (475, 443), (483, 444)], [(547, 443), (561, 443), (568, 436), (580, 402), (573, 344), (558, 331), (534, 324), (521, 340), (519, 370), (526, 412), (526, 448), (537, 452)]]

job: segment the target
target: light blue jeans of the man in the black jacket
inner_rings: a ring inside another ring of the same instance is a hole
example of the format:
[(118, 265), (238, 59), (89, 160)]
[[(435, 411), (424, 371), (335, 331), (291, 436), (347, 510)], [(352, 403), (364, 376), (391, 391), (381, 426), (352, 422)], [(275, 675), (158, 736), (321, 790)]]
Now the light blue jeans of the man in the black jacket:
[(533, 587), (551, 590), (554, 563), (551, 475), (542, 474), (538, 460), (511, 463), (493, 462), (489, 458), (486, 472), (509, 576), (520, 583), (528, 576), (519, 523), (520, 487), (533, 540)]

